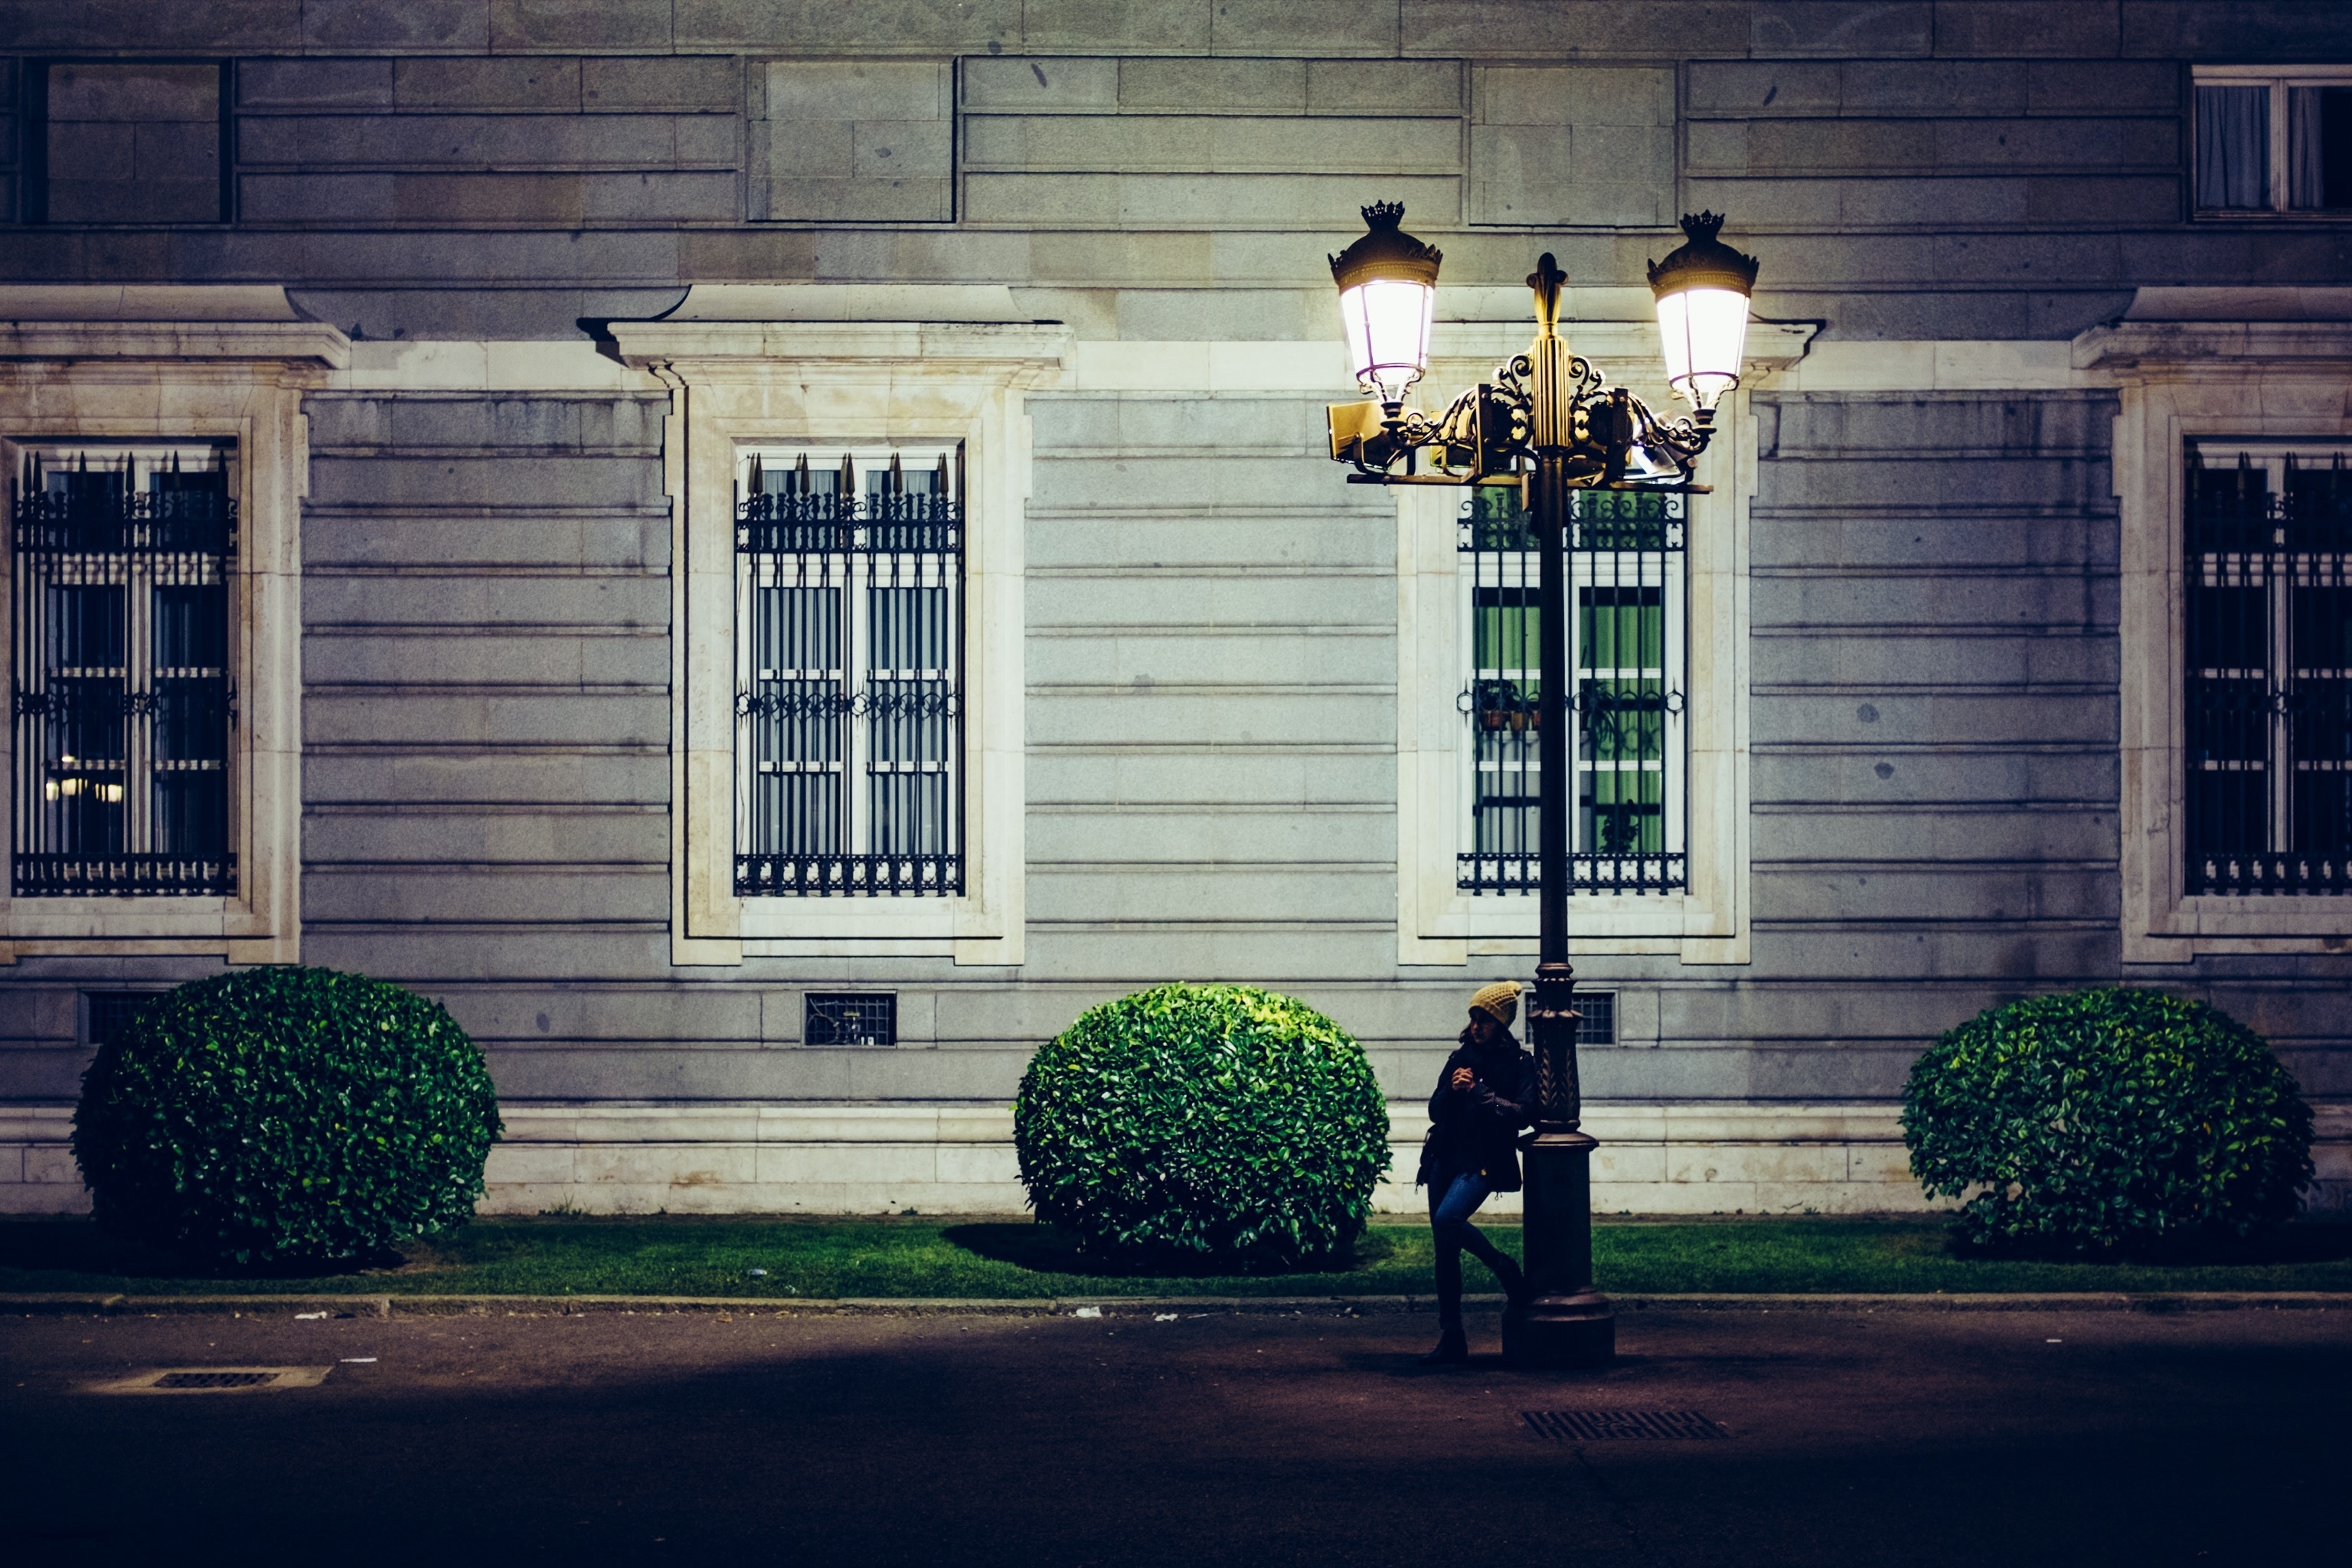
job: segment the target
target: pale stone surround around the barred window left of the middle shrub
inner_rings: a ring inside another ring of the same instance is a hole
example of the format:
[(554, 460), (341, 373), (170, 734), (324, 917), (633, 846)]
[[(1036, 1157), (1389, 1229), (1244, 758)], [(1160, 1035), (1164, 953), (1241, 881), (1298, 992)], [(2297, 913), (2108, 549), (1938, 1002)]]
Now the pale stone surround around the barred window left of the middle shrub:
[[(696, 284), (654, 322), (612, 322), (673, 395), (670, 961), (953, 957), (1023, 961), (1023, 397), (1073, 369), (1070, 331), (1004, 287)], [(964, 447), (964, 893), (734, 893), (734, 491), (741, 447)]]

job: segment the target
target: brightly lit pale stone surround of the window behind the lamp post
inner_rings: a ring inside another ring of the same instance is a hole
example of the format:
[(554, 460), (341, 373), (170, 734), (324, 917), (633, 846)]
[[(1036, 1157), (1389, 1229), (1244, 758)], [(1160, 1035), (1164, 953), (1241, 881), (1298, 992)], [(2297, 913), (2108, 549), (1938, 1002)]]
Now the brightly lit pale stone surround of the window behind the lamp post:
[[(1795, 364), (1811, 324), (1750, 322), (1748, 378), (1717, 411), (1700, 458), (1686, 538), (1686, 830), (1689, 886), (1677, 893), (1578, 896), (1576, 952), (1675, 954), (1684, 964), (1745, 964), (1748, 877), (1748, 508), (1757, 489), (1757, 430), (1748, 393)], [(1661, 411), (1686, 411), (1658, 381), (1653, 322), (1578, 322), (1569, 346), (1616, 386)], [(1526, 348), (1519, 324), (1439, 324), (1428, 400), (1494, 374)], [(1454, 487), (1397, 487), (1397, 961), (1468, 964), (1531, 954), (1536, 898), (1456, 886), (1463, 849), (1461, 578)]]

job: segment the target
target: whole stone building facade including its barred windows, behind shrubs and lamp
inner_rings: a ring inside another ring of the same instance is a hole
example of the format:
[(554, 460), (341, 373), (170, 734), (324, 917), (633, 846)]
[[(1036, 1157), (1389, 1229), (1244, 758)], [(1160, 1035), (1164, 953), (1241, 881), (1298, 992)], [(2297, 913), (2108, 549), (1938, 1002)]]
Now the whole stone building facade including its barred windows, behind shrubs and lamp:
[[(1663, 404), (1644, 261), (1698, 209), (1762, 261), (1715, 491), (1578, 578), (1583, 691), (1661, 698), (1578, 778), (1656, 872), (1571, 900), (1597, 1201), (1915, 1206), (1919, 1048), (2119, 980), (2260, 1027), (2343, 1201), (2345, 7), (14, 0), (0, 52), (0, 1208), (85, 1201), (92, 1041), (223, 964), (442, 999), (499, 1211), (1018, 1208), (1030, 1048), (1178, 978), (1329, 1011), (1418, 1140), (1531, 971), (1524, 618), (1461, 494), (1327, 461), (1374, 200), (1444, 249), (1430, 397), (1555, 252)], [(2336, 543), (2213, 543), (2223, 473)], [(26, 531), (101, 491), (113, 567)]]

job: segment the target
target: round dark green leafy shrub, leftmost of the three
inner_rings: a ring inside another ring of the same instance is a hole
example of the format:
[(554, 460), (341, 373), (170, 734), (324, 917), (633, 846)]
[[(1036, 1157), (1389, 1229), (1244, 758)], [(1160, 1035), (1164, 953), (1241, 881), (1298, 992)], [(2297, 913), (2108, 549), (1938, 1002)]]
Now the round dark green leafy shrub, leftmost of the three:
[(247, 969), (143, 1006), (82, 1074), (101, 1225), (209, 1262), (348, 1260), (461, 1225), (506, 1128), (437, 1001)]

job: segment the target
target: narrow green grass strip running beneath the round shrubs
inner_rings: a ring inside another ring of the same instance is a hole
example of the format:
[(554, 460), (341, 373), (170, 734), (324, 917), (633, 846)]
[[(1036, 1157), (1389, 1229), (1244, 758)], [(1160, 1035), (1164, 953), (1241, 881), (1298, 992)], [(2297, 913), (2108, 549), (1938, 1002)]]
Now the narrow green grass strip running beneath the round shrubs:
[[(1491, 1225), (1519, 1253), (1517, 1225)], [(2291, 1225), (2225, 1262), (2011, 1262), (1952, 1258), (1933, 1218), (1743, 1218), (1597, 1222), (1604, 1291), (1973, 1293), (1973, 1291), (2352, 1291), (2352, 1225)], [(1477, 1262), (1470, 1291), (1491, 1291)], [(1430, 1288), (1418, 1220), (1376, 1222), (1345, 1269), (1122, 1274), (1028, 1220), (953, 1218), (496, 1218), (414, 1244), (400, 1267), (193, 1272), (87, 1220), (0, 1222), (0, 1291), (122, 1295), (1404, 1295)]]

